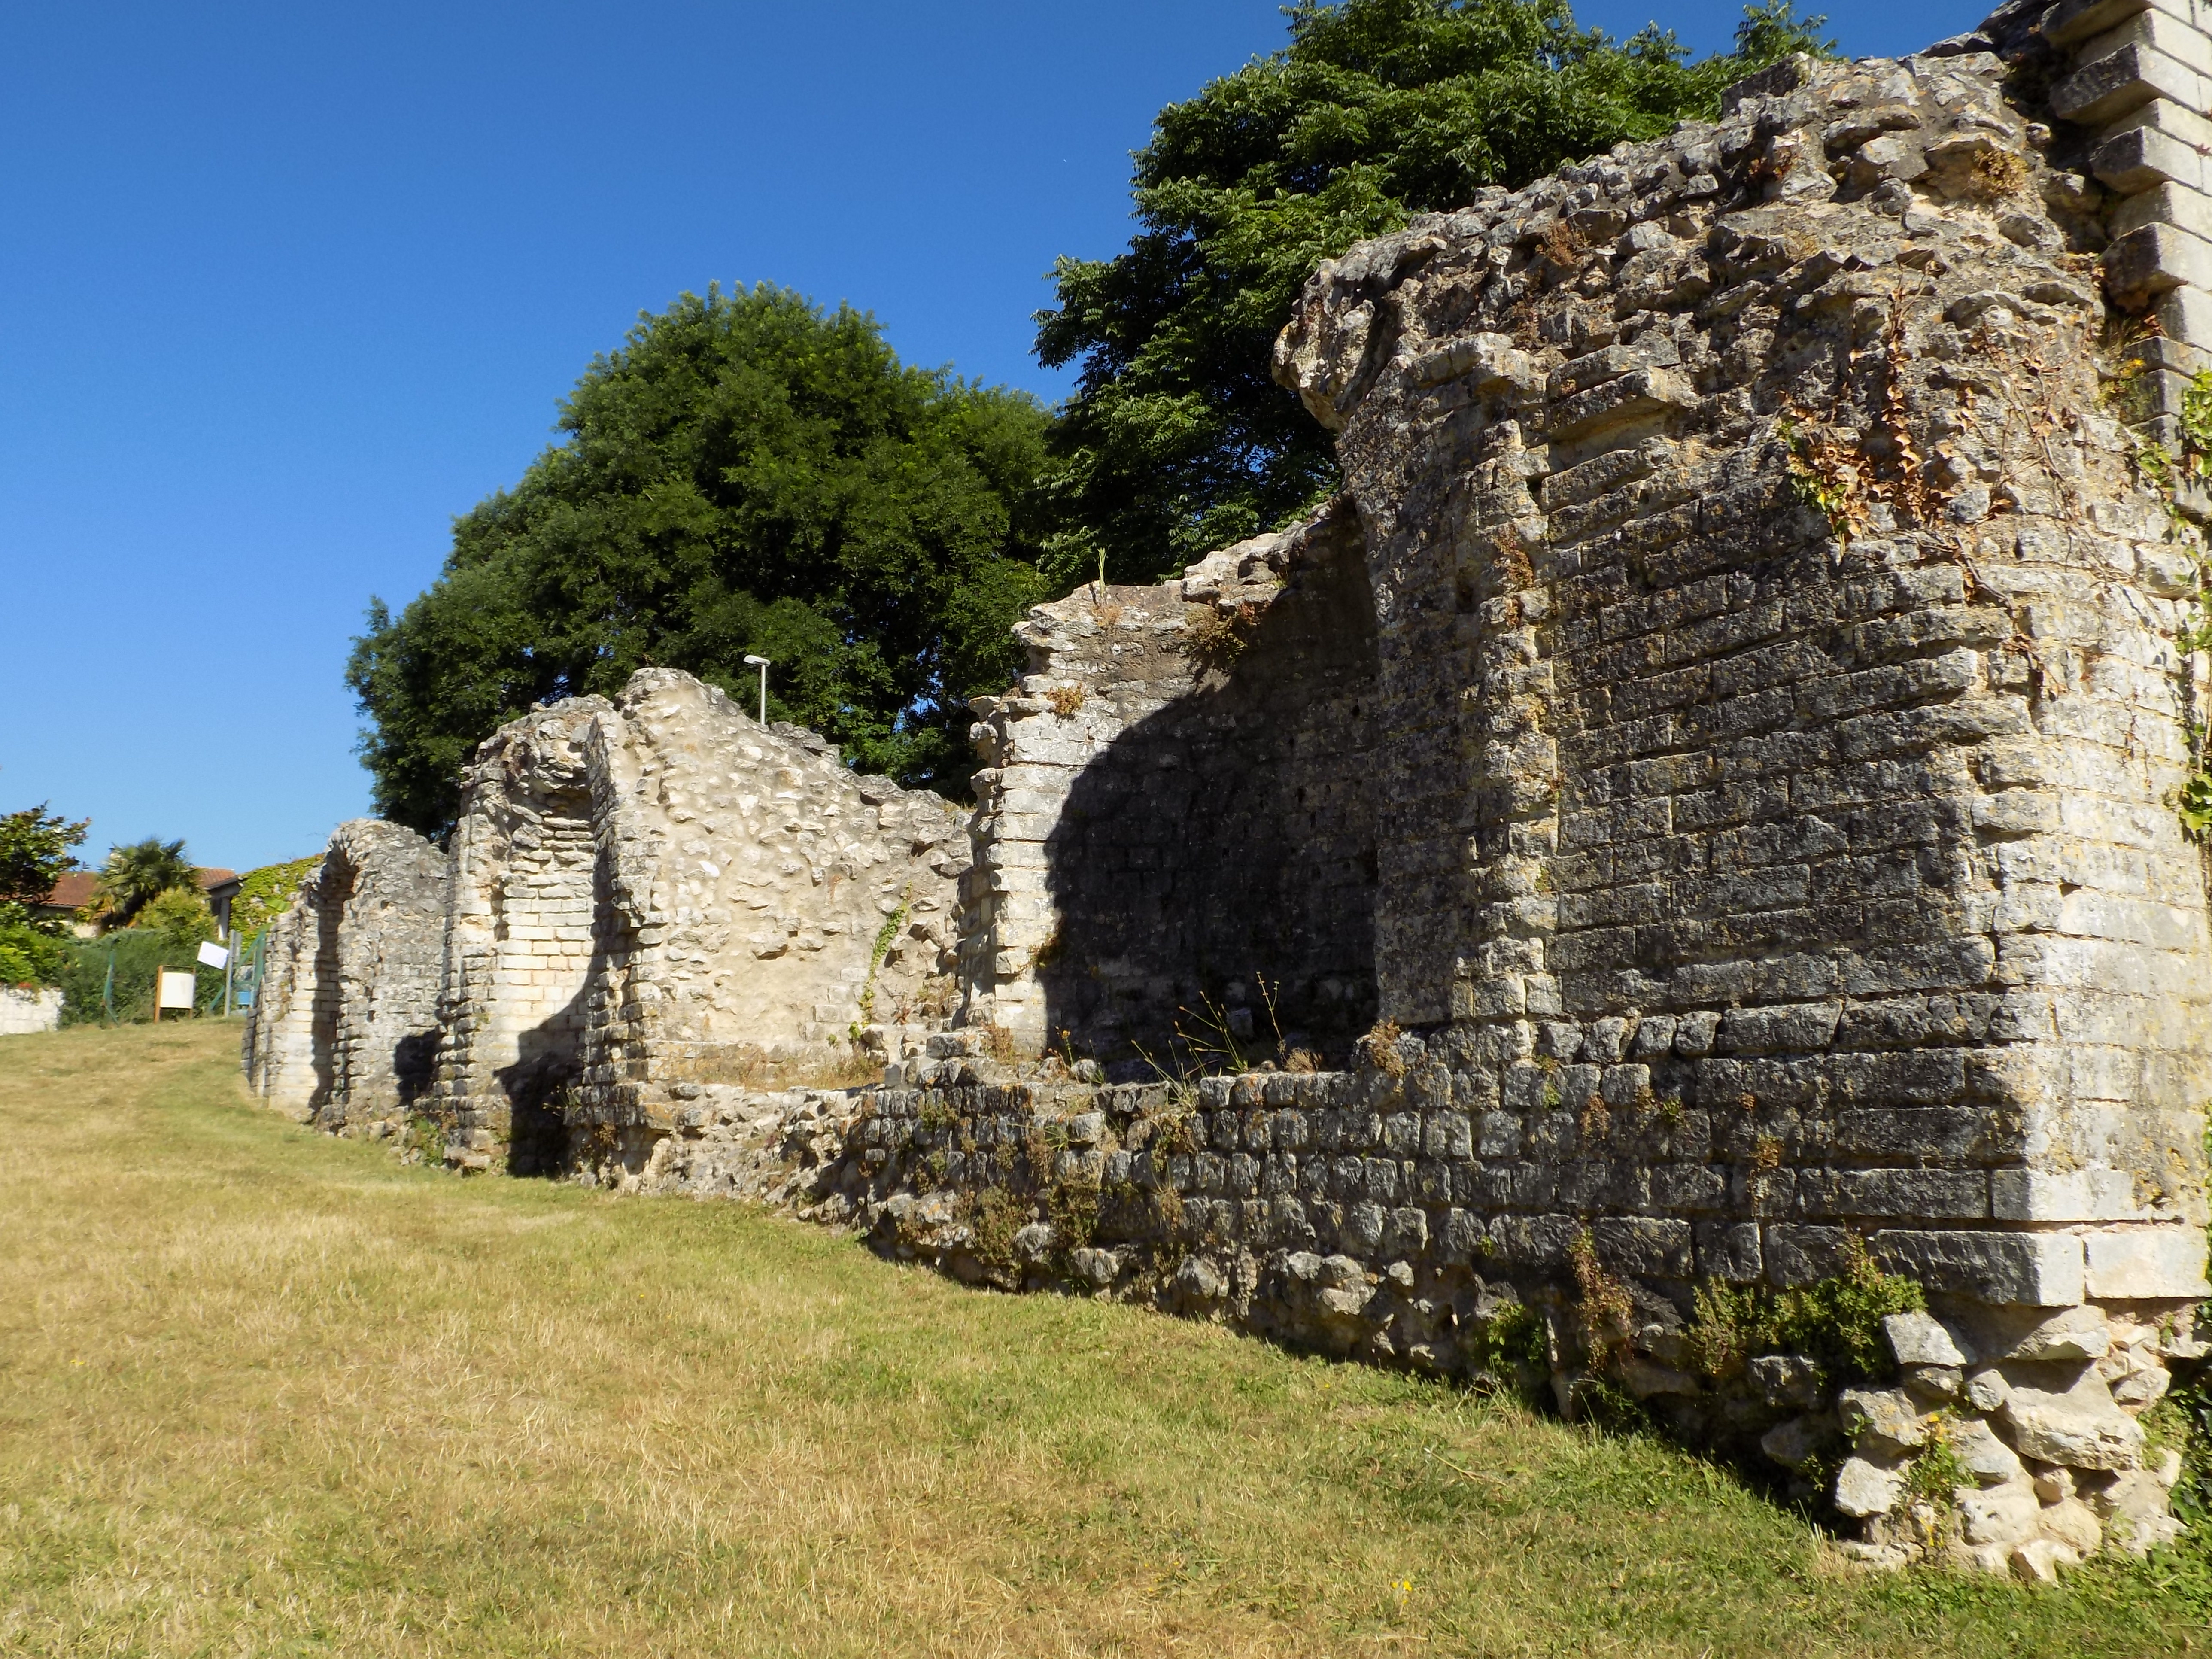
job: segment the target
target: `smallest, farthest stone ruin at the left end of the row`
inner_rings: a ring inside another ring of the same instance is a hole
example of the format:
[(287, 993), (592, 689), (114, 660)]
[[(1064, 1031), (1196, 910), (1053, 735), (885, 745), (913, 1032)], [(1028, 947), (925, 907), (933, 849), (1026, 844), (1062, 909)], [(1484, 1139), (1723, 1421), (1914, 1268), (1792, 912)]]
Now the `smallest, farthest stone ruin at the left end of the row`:
[(330, 1130), (389, 1126), (429, 1086), (445, 856), (374, 818), (338, 825), (270, 925), (246, 1079)]

